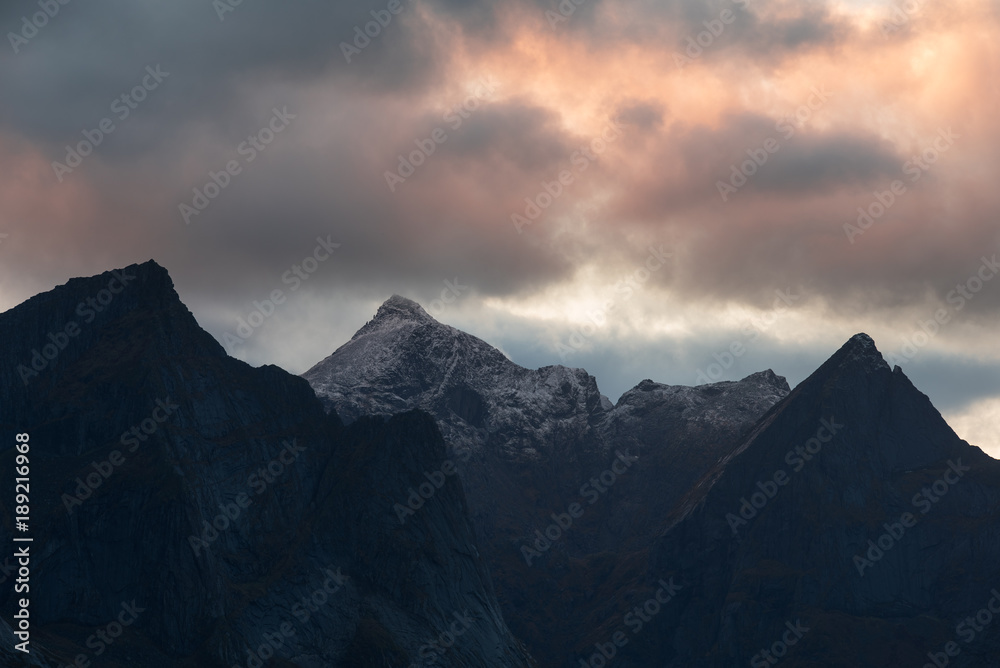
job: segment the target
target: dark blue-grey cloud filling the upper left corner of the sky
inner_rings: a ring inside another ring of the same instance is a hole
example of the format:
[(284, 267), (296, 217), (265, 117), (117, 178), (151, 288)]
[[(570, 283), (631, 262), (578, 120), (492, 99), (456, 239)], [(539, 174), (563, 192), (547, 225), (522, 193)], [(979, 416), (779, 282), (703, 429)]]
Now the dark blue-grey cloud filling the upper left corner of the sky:
[[(413, 2), (348, 64), (342, 41), (385, 3), (264, 3), (247, 0), (220, 21), (211, 2), (109, 0), (62, 7), (13, 55), (0, 51), (5, 104), (0, 123), (55, 144), (108, 115), (111, 101), (138, 84), (147, 65), (170, 73), (142, 114), (162, 142), (191, 122), (225, 132), (247, 114), (244, 96), (266, 82), (289, 85), (320, 76), (345, 94), (401, 94), (441, 75), (442, 54)], [(0, 29), (15, 30), (34, 3), (4, 3)], [(120, 143), (120, 142), (119, 142)], [(121, 149), (121, 147), (118, 147)]]

